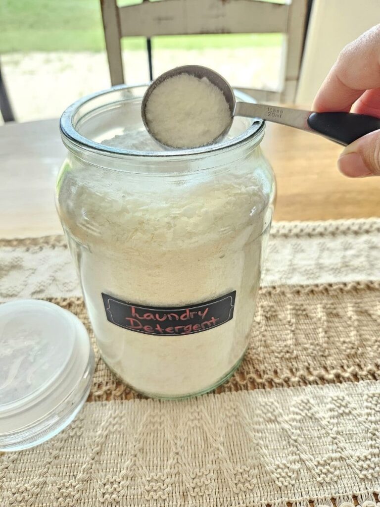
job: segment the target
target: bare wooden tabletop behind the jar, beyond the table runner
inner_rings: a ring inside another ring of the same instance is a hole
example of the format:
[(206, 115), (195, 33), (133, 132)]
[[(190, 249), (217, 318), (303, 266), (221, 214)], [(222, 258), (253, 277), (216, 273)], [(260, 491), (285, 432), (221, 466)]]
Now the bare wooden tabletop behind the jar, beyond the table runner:
[[(278, 183), (275, 220), (380, 216), (380, 178), (341, 175), (337, 144), (267, 124), (262, 147)], [(0, 127), (0, 237), (61, 233), (54, 185), (64, 156), (58, 120)]]

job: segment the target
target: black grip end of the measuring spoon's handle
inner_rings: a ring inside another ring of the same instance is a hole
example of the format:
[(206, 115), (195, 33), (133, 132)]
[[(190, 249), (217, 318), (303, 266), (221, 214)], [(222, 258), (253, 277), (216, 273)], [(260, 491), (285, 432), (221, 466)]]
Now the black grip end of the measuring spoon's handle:
[(332, 141), (347, 146), (359, 137), (380, 129), (380, 118), (355, 113), (312, 113), (309, 127)]

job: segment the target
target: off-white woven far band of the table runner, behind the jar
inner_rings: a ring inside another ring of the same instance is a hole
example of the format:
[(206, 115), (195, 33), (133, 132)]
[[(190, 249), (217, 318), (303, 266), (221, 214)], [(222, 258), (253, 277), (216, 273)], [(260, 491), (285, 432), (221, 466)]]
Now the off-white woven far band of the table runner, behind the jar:
[[(380, 280), (380, 219), (274, 223), (261, 284)], [(63, 236), (0, 239), (0, 301), (81, 296)]]

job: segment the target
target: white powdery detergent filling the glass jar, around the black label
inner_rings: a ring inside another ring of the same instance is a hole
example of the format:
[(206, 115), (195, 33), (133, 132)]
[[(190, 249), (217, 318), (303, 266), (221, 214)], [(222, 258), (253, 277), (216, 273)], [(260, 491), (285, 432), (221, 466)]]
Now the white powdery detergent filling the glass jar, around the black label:
[[(243, 158), (229, 167), (171, 177), (86, 163), (66, 171), (61, 219), (73, 238), (70, 248), (97, 343), (106, 364), (136, 389), (165, 396), (199, 392), (219, 382), (242, 356), (260, 280), (261, 232), (269, 222), (269, 191), (260, 183), (267, 170), (258, 157), (253, 164)], [(232, 291), (232, 320), (173, 337), (108, 322), (101, 297), (171, 308)]]

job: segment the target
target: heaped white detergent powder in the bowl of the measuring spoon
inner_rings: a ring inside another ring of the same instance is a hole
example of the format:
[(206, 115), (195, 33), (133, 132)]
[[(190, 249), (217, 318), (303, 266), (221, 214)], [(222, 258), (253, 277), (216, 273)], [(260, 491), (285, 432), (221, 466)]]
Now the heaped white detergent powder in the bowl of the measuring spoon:
[(231, 123), (223, 93), (206, 78), (180, 74), (159, 84), (146, 103), (151, 133), (173, 148), (209, 144)]

